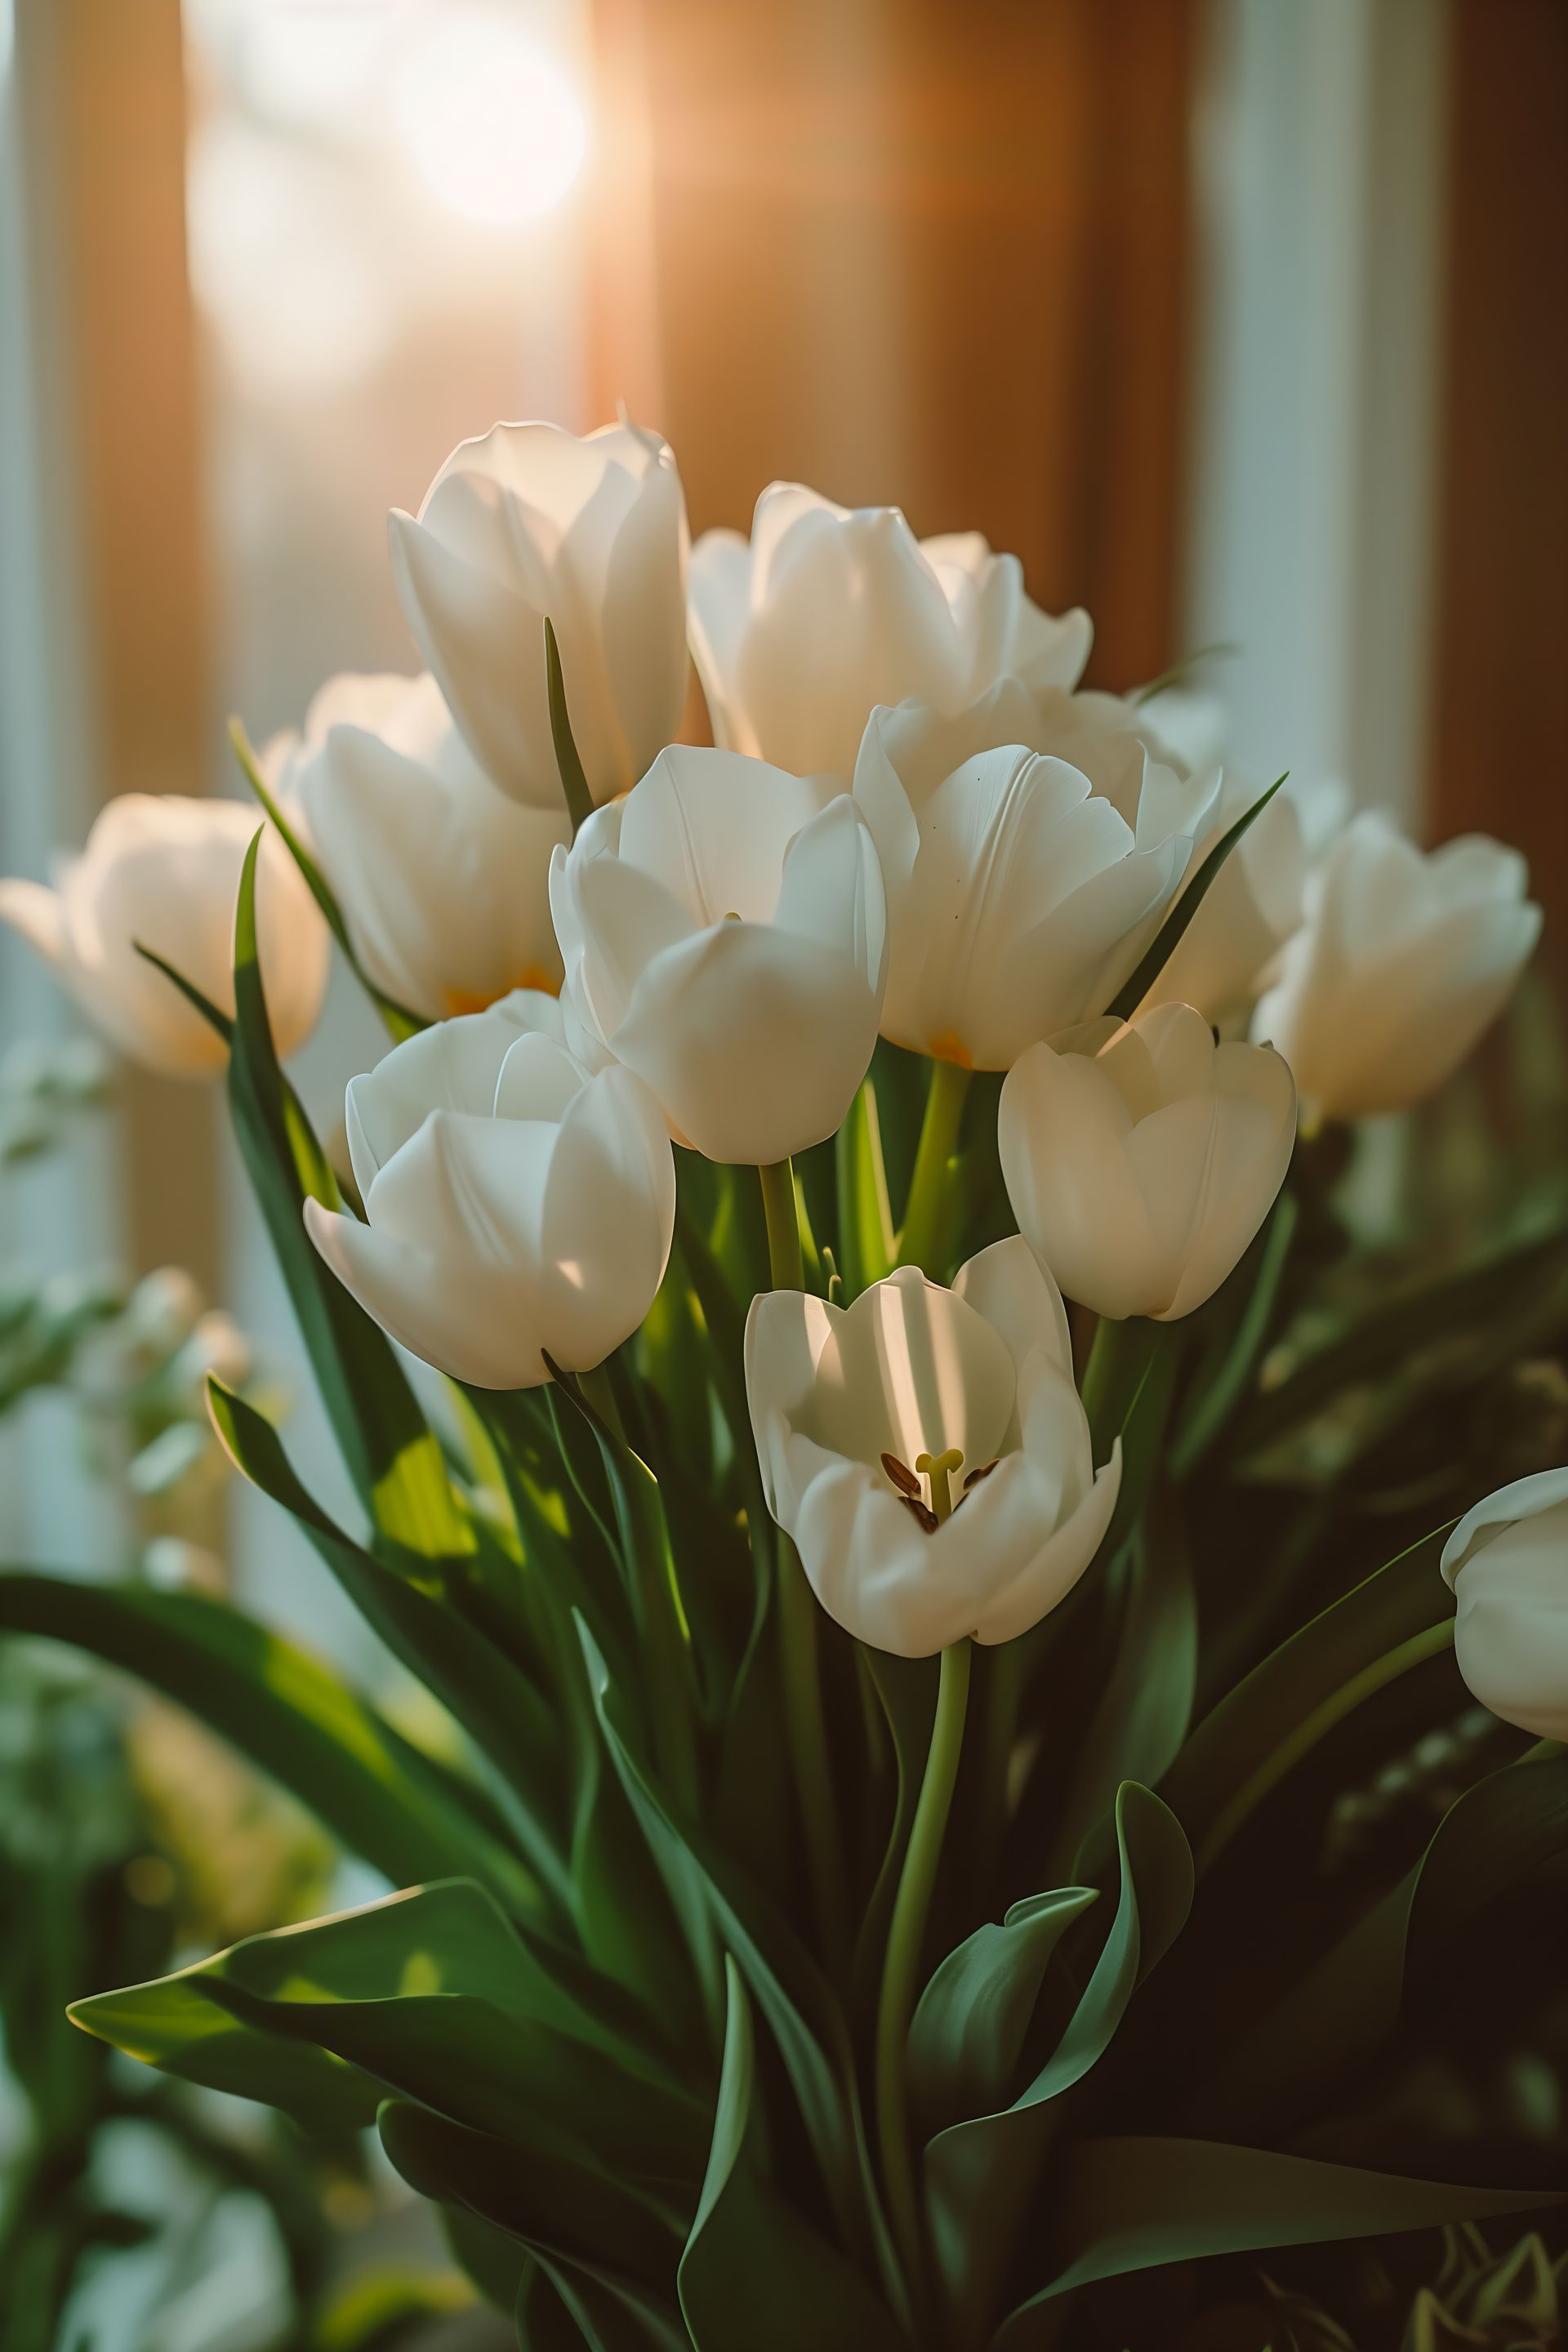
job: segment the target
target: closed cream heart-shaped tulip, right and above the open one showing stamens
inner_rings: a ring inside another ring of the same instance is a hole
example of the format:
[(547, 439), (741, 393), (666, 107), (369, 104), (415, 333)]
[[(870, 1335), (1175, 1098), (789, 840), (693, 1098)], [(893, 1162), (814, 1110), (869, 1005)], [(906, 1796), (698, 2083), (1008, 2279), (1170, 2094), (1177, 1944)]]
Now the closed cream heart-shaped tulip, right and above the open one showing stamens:
[(1225, 1282), (1284, 1183), (1291, 1070), (1265, 1047), (1218, 1047), (1192, 1004), (1103, 1023), (1084, 1047), (1037, 1044), (1001, 1084), (1013, 1216), (1067, 1298), (1175, 1322)]

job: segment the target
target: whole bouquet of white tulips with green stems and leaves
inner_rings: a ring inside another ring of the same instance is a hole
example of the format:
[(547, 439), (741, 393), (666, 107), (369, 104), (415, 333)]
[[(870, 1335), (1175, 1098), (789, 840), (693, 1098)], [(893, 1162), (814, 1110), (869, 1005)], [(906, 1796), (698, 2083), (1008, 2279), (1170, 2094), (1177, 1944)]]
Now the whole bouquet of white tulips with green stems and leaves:
[[(266, 821), (122, 800), (0, 896), (226, 1068), (357, 1524), (214, 1423), (444, 1710), (2, 1578), (395, 1889), (78, 2023), (374, 2124), (534, 2352), (1166, 2343), (1194, 2256), (1549, 2204), (1389, 2067), (1559, 1917), (1568, 1472), (1460, 1522), (1401, 1432), (1568, 1331), (1561, 1169), (1352, 1312), (1335, 1209), (1505, 1007), (1521, 861), (1081, 691), (978, 536), (776, 485), (689, 553), (628, 423), (463, 445), (393, 564), (428, 675), (240, 739)], [(329, 936), (390, 1035), (343, 1150), (280, 1065)], [(1335, 1867), (1422, 1740), (1441, 1818)]]

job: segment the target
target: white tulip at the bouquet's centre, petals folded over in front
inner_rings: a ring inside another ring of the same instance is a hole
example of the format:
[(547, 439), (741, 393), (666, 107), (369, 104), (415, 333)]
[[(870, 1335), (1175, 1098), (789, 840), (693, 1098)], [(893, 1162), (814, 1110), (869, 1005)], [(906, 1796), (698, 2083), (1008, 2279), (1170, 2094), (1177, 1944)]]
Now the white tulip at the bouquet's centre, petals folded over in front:
[(882, 873), (830, 776), (663, 750), (550, 868), (583, 1051), (649, 1082), (708, 1160), (835, 1134), (877, 1044)]

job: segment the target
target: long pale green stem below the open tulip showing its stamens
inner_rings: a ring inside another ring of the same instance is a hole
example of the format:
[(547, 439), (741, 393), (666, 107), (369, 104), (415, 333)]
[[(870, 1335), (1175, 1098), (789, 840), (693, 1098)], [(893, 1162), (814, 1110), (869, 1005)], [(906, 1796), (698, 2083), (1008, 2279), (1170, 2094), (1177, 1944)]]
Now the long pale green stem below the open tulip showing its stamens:
[(889, 2218), (917, 2307), (922, 2303), (926, 2256), (919, 2227), (914, 2154), (910, 2147), (905, 2053), (910, 2018), (914, 2016), (919, 1957), (926, 1940), (926, 1917), (931, 1912), (936, 1870), (943, 1858), (952, 1788), (959, 1776), (964, 1715), (969, 1708), (969, 1639), (954, 1642), (943, 1651), (926, 1776), (919, 1785), (910, 1846), (898, 1879), (898, 1900), (893, 1903), (893, 1924), (882, 1969), (882, 1999), (877, 2006), (877, 2145), (882, 2150)]

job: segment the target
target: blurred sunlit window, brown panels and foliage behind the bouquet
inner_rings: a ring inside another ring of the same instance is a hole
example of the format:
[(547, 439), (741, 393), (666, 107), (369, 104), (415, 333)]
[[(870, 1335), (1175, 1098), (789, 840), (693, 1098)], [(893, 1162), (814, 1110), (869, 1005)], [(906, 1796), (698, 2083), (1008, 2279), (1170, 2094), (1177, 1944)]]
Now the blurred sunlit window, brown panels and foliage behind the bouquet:
[[(0, 873), (113, 793), (233, 793), (228, 713), (263, 741), (334, 670), (416, 668), (386, 510), (496, 419), (625, 402), (693, 532), (797, 477), (1013, 548), (1093, 612), (1095, 684), (1227, 647), (1237, 760), (1516, 842), (1561, 985), (1566, 115), (1561, 0), (0, 0)], [(221, 1303), (348, 1512), (216, 1091), (108, 1070), (9, 934), (0, 1002), (0, 1555), (230, 1581), (386, 1679), (181, 1388)], [(341, 993), (317, 1120), (374, 1051)], [(167, 1265), (193, 1287), (136, 1289)], [(364, 1891), (186, 1726), (31, 1672), (5, 1886), (96, 1889), (82, 1971)], [(195, 1785), (193, 1832), (160, 1792)], [(200, 1853), (237, 1825), (235, 1910)], [(127, 2152), (73, 2082), (59, 2178), (132, 2187), (59, 2251), (61, 2343), (280, 2343), (327, 2225), (404, 2246), (348, 2152), (301, 2218), (294, 2154), (197, 2110)], [(73, 2286), (110, 2209), (113, 2293)]]

